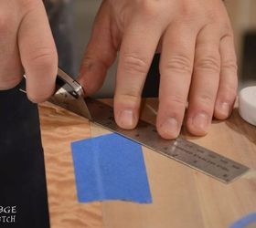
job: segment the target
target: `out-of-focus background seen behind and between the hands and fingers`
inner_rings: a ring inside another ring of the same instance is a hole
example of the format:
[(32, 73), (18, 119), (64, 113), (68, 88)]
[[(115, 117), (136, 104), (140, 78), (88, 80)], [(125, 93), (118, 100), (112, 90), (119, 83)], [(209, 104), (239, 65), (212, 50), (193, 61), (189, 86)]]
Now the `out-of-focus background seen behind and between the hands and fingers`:
[[(239, 89), (256, 85), (256, 0), (226, 0), (234, 29), (239, 65)], [(76, 78), (91, 26), (101, 0), (50, 0), (46, 3), (51, 28), (59, 52), (59, 67)], [(159, 72), (155, 57), (148, 75), (144, 96), (157, 95)], [(116, 63), (109, 70), (96, 98), (112, 97)], [(156, 85), (156, 86), (155, 86)]]

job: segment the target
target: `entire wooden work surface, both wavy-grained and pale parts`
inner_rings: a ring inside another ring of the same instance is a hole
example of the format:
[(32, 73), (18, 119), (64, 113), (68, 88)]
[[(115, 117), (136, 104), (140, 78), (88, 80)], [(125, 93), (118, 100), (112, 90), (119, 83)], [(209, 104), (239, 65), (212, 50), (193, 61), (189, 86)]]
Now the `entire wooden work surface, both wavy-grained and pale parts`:
[[(148, 98), (144, 102), (143, 119), (154, 121), (148, 105), (156, 109), (157, 101)], [(78, 203), (70, 142), (108, 131), (49, 103), (40, 105), (39, 114), (52, 228), (224, 228), (256, 212), (256, 128), (240, 119), (237, 109), (230, 119), (215, 120), (206, 137), (191, 137), (186, 130), (182, 134), (251, 171), (227, 185), (144, 148), (153, 196), (149, 205)]]

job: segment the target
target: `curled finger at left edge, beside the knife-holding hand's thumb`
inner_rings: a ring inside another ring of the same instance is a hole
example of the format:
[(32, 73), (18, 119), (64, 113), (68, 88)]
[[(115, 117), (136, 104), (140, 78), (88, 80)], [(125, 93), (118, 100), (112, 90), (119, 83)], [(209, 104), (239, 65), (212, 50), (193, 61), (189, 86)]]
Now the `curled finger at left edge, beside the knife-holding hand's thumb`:
[(17, 12), (14, 2), (0, 2), (0, 90), (14, 88), (22, 78), (16, 42), (21, 16)]

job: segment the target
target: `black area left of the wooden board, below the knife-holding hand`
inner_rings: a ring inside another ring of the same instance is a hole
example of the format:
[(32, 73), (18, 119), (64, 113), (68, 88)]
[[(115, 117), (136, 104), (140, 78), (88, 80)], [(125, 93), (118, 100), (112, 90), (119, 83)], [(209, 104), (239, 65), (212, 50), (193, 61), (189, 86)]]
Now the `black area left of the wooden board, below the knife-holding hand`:
[[(0, 227), (48, 228), (37, 105), (20, 87), (0, 91)], [(7, 206), (16, 206), (16, 213), (1, 212)], [(14, 223), (3, 222), (9, 215), (16, 215)]]

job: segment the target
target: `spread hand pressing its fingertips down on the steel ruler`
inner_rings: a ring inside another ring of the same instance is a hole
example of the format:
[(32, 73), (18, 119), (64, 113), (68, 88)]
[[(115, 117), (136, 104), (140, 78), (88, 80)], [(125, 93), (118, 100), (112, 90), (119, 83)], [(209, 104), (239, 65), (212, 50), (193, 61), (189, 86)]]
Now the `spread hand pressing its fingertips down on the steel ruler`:
[(133, 129), (155, 50), (160, 60), (156, 126), (176, 138), (187, 107), (187, 129), (205, 135), (213, 115), (227, 119), (236, 98), (237, 65), (232, 29), (221, 0), (105, 0), (96, 16), (80, 83), (101, 88), (118, 50), (114, 94), (117, 124)]

